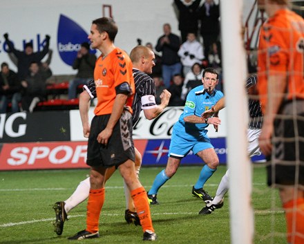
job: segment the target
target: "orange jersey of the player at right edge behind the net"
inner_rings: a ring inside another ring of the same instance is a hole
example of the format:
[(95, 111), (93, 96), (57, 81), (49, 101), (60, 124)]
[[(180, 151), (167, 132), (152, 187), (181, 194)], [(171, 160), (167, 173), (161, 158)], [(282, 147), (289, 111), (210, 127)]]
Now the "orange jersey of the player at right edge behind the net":
[(296, 13), (278, 10), (260, 29), (258, 93), (267, 104), (269, 75), (287, 75), (287, 100), (304, 99), (304, 20)]

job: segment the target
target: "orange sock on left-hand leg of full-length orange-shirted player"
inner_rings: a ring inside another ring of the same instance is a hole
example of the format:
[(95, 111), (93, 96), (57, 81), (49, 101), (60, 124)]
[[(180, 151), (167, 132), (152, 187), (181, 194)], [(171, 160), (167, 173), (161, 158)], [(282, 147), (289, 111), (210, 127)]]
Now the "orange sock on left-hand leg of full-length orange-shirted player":
[(98, 232), (99, 215), (104, 205), (104, 188), (91, 189), (88, 195), (86, 210), (86, 230), (91, 233)]

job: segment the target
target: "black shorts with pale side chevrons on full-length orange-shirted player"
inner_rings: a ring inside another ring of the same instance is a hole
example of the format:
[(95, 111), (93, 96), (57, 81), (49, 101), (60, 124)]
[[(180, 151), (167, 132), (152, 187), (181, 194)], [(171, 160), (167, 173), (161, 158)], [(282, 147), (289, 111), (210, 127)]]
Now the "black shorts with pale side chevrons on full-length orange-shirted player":
[(126, 160), (135, 162), (135, 151), (132, 139), (132, 115), (124, 111), (120, 120), (115, 124), (113, 134), (108, 144), (97, 142), (97, 135), (106, 128), (108, 115), (96, 115), (91, 122), (91, 131), (88, 137), (88, 153), (86, 164), (91, 167), (116, 168)]

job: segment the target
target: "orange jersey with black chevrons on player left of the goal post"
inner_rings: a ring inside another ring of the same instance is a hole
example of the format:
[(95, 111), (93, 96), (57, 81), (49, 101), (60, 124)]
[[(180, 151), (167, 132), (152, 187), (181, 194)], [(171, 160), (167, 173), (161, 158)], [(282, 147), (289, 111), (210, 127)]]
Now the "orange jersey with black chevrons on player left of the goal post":
[(132, 62), (120, 48), (115, 48), (106, 56), (100, 55), (94, 70), (97, 105), (95, 115), (110, 114), (117, 94), (129, 95), (126, 107), (132, 113), (132, 102), (135, 93), (132, 75)]

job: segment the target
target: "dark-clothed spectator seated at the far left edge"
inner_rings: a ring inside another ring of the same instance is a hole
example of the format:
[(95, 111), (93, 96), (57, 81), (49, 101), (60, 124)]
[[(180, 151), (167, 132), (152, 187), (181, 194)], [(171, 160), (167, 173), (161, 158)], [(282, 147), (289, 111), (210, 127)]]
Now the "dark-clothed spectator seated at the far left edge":
[(12, 103), (12, 113), (19, 112), (21, 83), (17, 74), (10, 70), (7, 63), (1, 64), (0, 72), (0, 113), (6, 113), (8, 103)]

